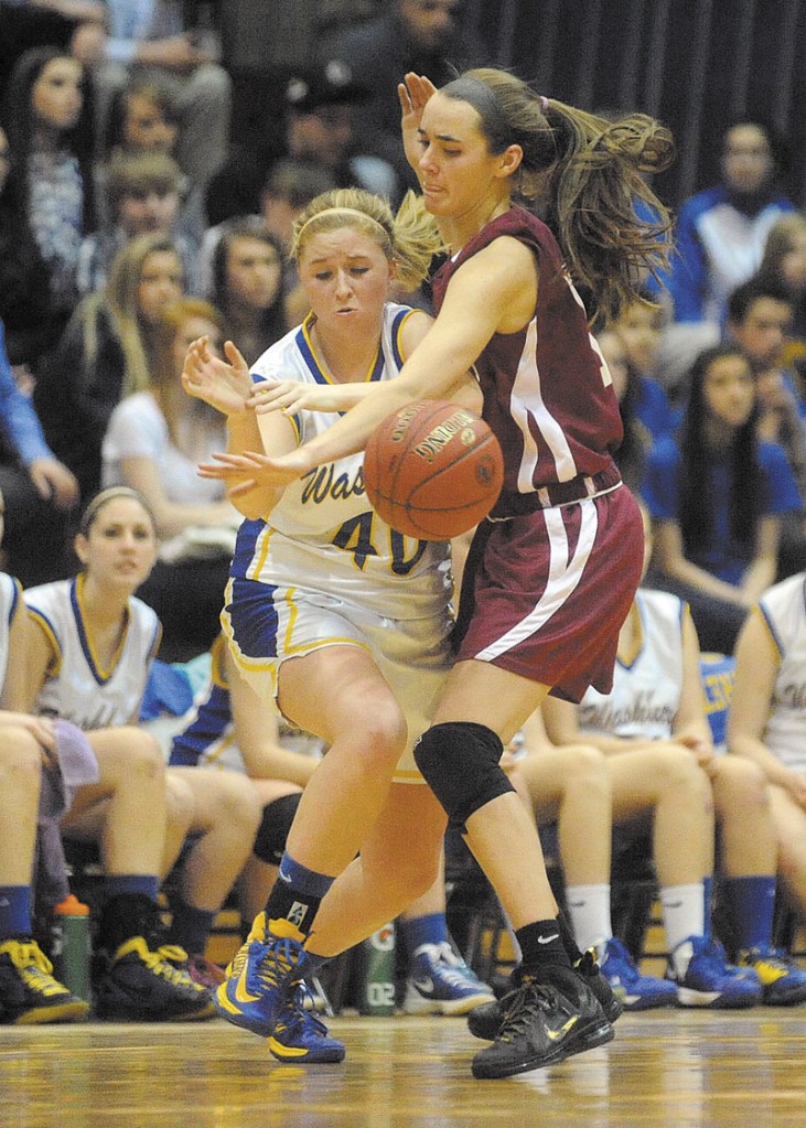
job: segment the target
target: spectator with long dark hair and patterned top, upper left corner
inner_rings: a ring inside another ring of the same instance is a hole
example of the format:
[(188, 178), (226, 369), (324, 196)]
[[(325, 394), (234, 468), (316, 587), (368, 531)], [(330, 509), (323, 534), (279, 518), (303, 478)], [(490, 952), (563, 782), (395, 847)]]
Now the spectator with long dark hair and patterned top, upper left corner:
[(63, 323), (78, 301), (81, 239), (95, 227), (85, 68), (57, 47), (26, 52), (11, 74), (5, 115), (23, 213), (48, 268), (53, 312)]

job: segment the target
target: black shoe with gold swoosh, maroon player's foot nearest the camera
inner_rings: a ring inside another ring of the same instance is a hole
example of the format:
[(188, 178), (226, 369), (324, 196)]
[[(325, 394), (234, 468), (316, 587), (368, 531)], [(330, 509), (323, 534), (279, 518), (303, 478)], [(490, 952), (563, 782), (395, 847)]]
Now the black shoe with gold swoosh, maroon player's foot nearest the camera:
[(613, 1038), (602, 1007), (573, 969), (558, 966), (543, 973), (543, 982), (524, 976), (512, 993), (495, 1041), (473, 1058), (473, 1077), (540, 1069)]

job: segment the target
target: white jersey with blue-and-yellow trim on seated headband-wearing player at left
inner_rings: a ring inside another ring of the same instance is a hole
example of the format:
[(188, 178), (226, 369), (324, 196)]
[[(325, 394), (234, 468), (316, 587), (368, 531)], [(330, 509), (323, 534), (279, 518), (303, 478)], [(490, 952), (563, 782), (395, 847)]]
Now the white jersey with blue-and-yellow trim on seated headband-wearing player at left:
[(45, 632), (54, 660), (36, 712), (61, 716), (80, 729), (105, 729), (136, 719), (149, 667), (160, 642), (156, 611), (132, 597), (121, 645), (103, 669), (86, 627), (81, 605), (83, 575), (44, 583), (25, 592), (32, 618)]

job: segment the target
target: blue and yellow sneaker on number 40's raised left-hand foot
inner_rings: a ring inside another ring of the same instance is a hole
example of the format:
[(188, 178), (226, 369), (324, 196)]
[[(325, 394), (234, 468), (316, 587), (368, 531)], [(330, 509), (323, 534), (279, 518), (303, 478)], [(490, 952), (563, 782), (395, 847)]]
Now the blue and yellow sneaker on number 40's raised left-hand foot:
[(236, 1026), (268, 1038), (289, 1003), (291, 988), (304, 976), (304, 936), (290, 920), (273, 920), (258, 913), (215, 992), (215, 1008)]

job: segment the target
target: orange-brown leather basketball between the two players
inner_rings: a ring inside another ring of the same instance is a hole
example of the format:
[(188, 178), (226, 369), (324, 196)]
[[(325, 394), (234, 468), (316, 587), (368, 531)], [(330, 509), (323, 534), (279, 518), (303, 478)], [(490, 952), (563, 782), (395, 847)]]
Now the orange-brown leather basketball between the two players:
[(381, 520), (420, 540), (449, 540), (485, 518), (504, 481), (498, 440), (458, 404), (392, 412), (364, 452), (364, 487)]

